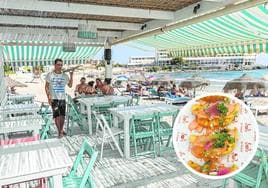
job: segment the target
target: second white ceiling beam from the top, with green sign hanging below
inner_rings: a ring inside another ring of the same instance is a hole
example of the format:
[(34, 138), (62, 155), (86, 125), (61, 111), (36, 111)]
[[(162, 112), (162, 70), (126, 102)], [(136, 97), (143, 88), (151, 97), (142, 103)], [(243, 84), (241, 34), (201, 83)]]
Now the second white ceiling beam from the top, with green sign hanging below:
[(78, 28), (78, 24), (93, 24), (98, 29), (110, 30), (140, 30), (142, 24), (108, 21), (86, 21), (77, 19), (41, 18), (30, 16), (7, 16), (0, 15), (0, 24), (44, 26), (44, 27), (67, 27)]

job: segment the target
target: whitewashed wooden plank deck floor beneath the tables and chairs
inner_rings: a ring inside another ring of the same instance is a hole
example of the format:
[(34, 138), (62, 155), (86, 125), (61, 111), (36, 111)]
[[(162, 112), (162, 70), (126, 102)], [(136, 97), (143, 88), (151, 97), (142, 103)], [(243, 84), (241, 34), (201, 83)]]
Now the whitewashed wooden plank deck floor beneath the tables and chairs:
[[(78, 134), (61, 139), (73, 158), (84, 138), (94, 143), (94, 137)], [(97, 147), (98, 149), (98, 147)], [(221, 181), (199, 178), (189, 172), (178, 160), (174, 151), (167, 151), (161, 157), (140, 157), (124, 159), (107, 145), (102, 160), (95, 163), (93, 176), (99, 187), (220, 187)]]

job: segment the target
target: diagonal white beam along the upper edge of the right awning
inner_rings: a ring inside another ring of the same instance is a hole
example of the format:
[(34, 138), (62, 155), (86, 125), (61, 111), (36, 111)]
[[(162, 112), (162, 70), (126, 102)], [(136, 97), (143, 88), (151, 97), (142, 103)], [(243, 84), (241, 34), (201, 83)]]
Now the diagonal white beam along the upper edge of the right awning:
[[(143, 32), (124, 31), (122, 33), (122, 38), (114, 39), (111, 43), (112, 45), (115, 45), (119, 43), (125, 43), (131, 40), (136, 40), (139, 38), (159, 35), (166, 31), (203, 22), (211, 18), (231, 14), (242, 9), (247, 9), (257, 6), (259, 4), (263, 4), (265, 2), (267, 2), (267, 0), (225, 0), (223, 2), (208, 2), (205, 0), (200, 3), (200, 9), (198, 10), (197, 14), (193, 14), (193, 7), (196, 4), (191, 5), (175, 13), (175, 17), (177, 18), (176, 21), (161, 21), (162, 23), (160, 24), (157, 20), (147, 22), (147, 27), (144, 29)], [(192, 16), (189, 16), (188, 14), (192, 14)]]

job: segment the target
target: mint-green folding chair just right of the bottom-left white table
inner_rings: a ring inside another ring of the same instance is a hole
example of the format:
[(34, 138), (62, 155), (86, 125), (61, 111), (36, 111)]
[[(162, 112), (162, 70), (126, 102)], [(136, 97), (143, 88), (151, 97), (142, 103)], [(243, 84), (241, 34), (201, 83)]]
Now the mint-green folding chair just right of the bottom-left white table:
[[(84, 158), (84, 154), (89, 157), (89, 162), (85, 166), (86, 160)], [(82, 167), (83, 176), (82, 181), (79, 185), (79, 188), (86, 187), (86, 184), (89, 183), (90, 187), (94, 187), (94, 182), (92, 180), (91, 171), (94, 167), (94, 163), (97, 159), (98, 152), (95, 151), (89, 144), (88, 140), (84, 140), (78, 155), (74, 161), (73, 167), (70, 172), (71, 177), (81, 177), (78, 175), (78, 168)], [(89, 181), (88, 181), (89, 180)]]

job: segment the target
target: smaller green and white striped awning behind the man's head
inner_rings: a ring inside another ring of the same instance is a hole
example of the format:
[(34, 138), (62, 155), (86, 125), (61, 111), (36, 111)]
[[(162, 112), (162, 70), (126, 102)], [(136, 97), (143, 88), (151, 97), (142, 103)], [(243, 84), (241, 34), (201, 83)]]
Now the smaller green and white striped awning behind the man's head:
[(62, 46), (8, 45), (3, 46), (5, 64), (15, 66), (52, 65), (56, 58), (65, 64), (83, 64), (94, 57), (102, 47), (76, 46), (75, 52), (63, 52)]

